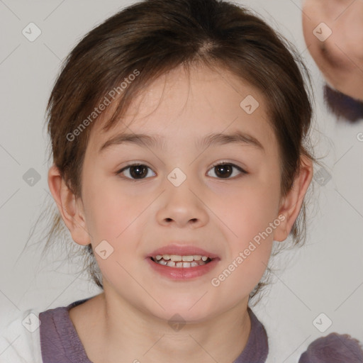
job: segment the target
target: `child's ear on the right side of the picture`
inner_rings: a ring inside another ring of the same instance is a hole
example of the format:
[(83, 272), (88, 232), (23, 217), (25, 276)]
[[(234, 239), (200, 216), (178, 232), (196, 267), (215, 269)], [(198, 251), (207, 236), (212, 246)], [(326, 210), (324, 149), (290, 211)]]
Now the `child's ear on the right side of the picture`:
[(284, 241), (289, 236), (292, 226), (303, 204), (303, 198), (313, 178), (313, 162), (308, 157), (301, 157), (300, 171), (294, 179), (294, 184), (286, 196), (281, 199), (279, 218), (280, 225), (274, 230), (274, 240)]

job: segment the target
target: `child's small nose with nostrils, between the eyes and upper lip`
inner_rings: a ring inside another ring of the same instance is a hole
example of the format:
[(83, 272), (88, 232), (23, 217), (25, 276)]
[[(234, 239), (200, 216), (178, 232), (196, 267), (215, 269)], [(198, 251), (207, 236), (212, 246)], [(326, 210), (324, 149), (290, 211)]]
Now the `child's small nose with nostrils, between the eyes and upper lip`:
[(208, 213), (199, 196), (203, 186), (196, 182), (196, 176), (187, 173), (191, 173), (191, 168), (184, 172), (181, 168), (175, 167), (167, 174), (162, 203), (157, 211), (159, 223), (183, 226), (188, 223), (203, 225), (207, 222)]

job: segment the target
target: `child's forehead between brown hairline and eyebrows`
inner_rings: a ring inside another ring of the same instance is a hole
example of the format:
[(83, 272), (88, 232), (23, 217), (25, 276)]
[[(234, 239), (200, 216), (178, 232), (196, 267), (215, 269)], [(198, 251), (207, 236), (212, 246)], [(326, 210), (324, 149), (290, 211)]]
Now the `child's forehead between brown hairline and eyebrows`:
[(102, 127), (112, 111), (111, 106), (106, 109), (91, 132), (89, 147), (95, 154), (121, 133), (155, 135), (150, 143), (161, 148), (180, 138), (197, 147), (208, 135), (237, 133), (250, 138), (250, 146), (254, 140), (255, 147), (260, 143), (262, 149), (276, 146), (261, 92), (225, 69), (198, 67), (186, 72), (179, 67), (163, 74), (104, 132)]

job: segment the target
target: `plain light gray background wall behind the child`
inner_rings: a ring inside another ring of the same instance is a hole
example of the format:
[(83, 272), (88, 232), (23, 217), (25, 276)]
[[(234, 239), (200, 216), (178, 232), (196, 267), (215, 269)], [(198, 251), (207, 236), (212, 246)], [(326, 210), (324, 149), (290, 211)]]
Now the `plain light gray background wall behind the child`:
[[(315, 90), (315, 152), (332, 177), (323, 186), (315, 182), (306, 246), (281, 255), (281, 272), (253, 309), (267, 328), (269, 362), (281, 363), (297, 362), (311, 341), (332, 332), (363, 342), (363, 142), (357, 138), (363, 122), (337, 122), (325, 108), (323, 77), (303, 40), (301, 1), (294, 1), (238, 1), (252, 6), (305, 58)], [(77, 278), (77, 267), (63, 261), (62, 246), (40, 260), (43, 243), (35, 245), (35, 236), (33, 247), (18, 257), (40, 211), (52, 203), (43, 123), (61, 61), (82, 35), (133, 2), (0, 1), (0, 306), (9, 314), (65, 306), (100, 292), (86, 277)], [(30, 22), (42, 31), (33, 43), (21, 33)], [(40, 174), (33, 186), (23, 180), (30, 168)], [(313, 325), (320, 313), (333, 321), (324, 333)]]

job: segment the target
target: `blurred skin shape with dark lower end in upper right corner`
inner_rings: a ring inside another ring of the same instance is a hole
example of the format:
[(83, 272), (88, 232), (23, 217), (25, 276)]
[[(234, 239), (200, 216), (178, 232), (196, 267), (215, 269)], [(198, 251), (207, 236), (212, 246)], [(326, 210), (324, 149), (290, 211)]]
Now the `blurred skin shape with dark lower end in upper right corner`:
[(363, 0), (303, 0), (303, 36), (338, 119), (363, 118)]

